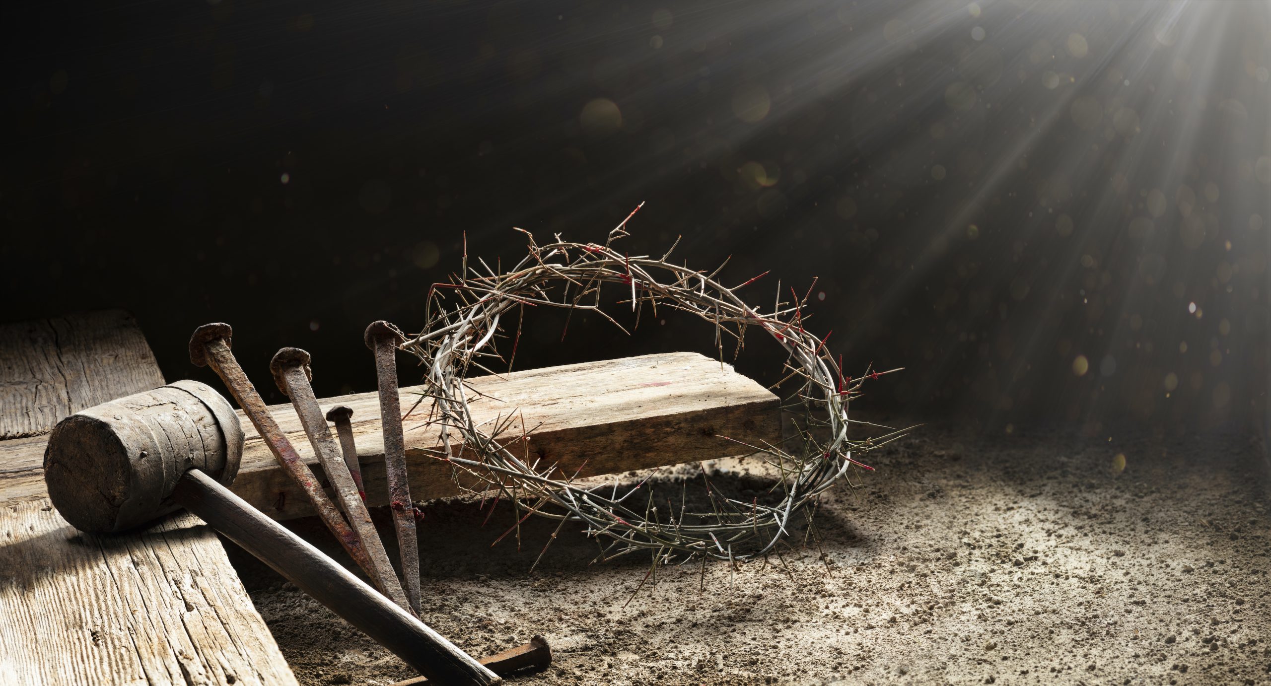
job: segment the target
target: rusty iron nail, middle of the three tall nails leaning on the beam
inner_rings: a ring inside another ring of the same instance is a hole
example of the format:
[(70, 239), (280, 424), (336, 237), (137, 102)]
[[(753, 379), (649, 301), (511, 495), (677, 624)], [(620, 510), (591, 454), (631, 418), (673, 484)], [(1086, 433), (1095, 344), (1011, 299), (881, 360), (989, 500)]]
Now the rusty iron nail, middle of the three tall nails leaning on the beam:
[(366, 503), (362, 502), (357, 484), (353, 483), (353, 475), (350, 474), (344, 460), (337, 454), (336, 440), (330, 437), (327, 419), (323, 418), (322, 408), (318, 407), (318, 398), (314, 395), (313, 386), (309, 385), (313, 379), (313, 372), (309, 370), (309, 353), (300, 348), (282, 348), (269, 361), (269, 371), (273, 373), (273, 381), (278, 385), (278, 390), (291, 398), (291, 404), (296, 408), (296, 414), (300, 415), (300, 423), (305, 427), (309, 445), (318, 454), (318, 461), (322, 462), (323, 470), (327, 473), (327, 480), (336, 490), (336, 498), (348, 517), (348, 523), (362, 542), (362, 549), (366, 550), (366, 564), (361, 562), (358, 564), (375, 581), (380, 592), (409, 612), (411, 606), (405, 600), (405, 593), (402, 592), (397, 573), (393, 572), (389, 554), (384, 550), (379, 532), (375, 531), (375, 523), (371, 522)]

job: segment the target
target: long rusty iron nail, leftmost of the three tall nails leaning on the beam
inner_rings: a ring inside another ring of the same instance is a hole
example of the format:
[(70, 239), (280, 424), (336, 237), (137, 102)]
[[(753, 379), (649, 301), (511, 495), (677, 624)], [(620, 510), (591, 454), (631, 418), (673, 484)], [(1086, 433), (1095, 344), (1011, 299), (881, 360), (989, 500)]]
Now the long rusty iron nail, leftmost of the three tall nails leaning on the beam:
[(330, 502), (330, 498), (327, 497), (318, 479), (314, 478), (314, 473), (309, 470), (309, 465), (300, 459), (296, 448), (283, 436), (282, 429), (278, 428), (278, 423), (273, 420), (273, 415), (266, 408), (261, 394), (257, 393), (255, 386), (252, 385), (247, 373), (243, 372), (243, 367), (234, 358), (234, 353), (230, 351), (233, 333), (234, 330), (229, 324), (221, 323), (205, 324), (194, 329), (194, 334), (189, 338), (189, 361), (198, 367), (212, 367), (212, 371), (221, 377), (221, 381), (229, 387), (230, 394), (234, 395), (234, 400), (243, 408), (255, 431), (261, 433), (261, 438), (269, 446), (269, 451), (273, 452), (278, 464), (286, 470), (291, 480), (305, 492), (310, 504), (313, 504), (314, 511), (318, 512), (323, 523), (327, 525), (327, 528), (330, 530), (339, 541), (339, 545), (344, 548), (358, 567), (366, 569), (370, 564), (366, 549), (358, 541), (357, 535), (350, 528), (348, 523), (344, 522), (344, 517), (339, 513), (336, 503)]

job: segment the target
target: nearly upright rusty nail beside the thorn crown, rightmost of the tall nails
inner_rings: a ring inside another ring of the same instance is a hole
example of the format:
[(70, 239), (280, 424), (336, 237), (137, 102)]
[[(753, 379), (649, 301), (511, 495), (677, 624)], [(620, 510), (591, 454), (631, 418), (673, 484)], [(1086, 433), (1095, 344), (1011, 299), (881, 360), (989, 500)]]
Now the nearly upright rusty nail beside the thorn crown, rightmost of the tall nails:
[(388, 321), (366, 328), (366, 347), (375, 351), (375, 376), (380, 391), (380, 423), (384, 429), (384, 466), (389, 481), (389, 507), (402, 550), (402, 579), (411, 607), (419, 610), (419, 544), (414, 531), (414, 506), (405, 471), (405, 438), (402, 434), (402, 404), (398, 400), (397, 347), (405, 337)]

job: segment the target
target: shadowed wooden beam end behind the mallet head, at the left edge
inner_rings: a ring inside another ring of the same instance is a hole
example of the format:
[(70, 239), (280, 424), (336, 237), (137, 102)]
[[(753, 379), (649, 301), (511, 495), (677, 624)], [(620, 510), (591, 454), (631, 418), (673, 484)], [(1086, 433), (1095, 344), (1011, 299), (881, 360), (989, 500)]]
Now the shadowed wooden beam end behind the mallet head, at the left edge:
[(163, 384), (123, 310), (0, 325), (0, 440), (47, 433), (84, 408)]

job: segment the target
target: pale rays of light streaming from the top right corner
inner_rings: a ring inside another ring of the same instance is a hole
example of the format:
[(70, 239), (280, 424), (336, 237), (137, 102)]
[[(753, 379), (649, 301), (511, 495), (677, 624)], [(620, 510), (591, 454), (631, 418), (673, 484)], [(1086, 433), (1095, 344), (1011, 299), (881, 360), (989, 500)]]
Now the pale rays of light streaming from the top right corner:
[[(791, 145), (782, 180), (758, 184), (760, 198), (803, 194), (784, 231), (760, 205), (756, 239), (798, 253), (791, 225), (843, 230), (834, 208), (850, 201), (839, 219), (849, 234), (877, 232), (858, 243), (869, 260), (840, 249), (811, 262), (843, 269), (849, 351), (876, 351), (890, 334), (934, 353), (909, 398), (962, 384), (989, 424), (1031, 405), (1096, 433), (1116, 417), (1214, 426), (1262, 407), (1266, 363), (1254, 352), (1266, 326), (1243, 315), (1267, 297), (1266, 234), (1252, 229), (1266, 215), (1267, 5), (747, 8), (717, 27), (731, 50), (710, 83), (731, 65), (742, 84), (760, 84), (749, 91), (766, 94), (763, 114), (718, 98), (652, 126), (694, 140), (690, 164), (740, 169), (759, 156), (749, 150), (779, 150), (774, 138), (820, 118), (821, 145)], [(691, 119), (709, 123), (694, 131)], [(623, 177), (647, 178), (656, 158), (630, 158), (601, 185), (627, 192)], [(816, 177), (833, 177), (831, 188), (808, 191)], [(732, 216), (717, 227), (750, 216), (723, 210)], [(916, 309), (944, 285), (934, 314)], [(854, 291), (864, 293), (852, 302)], [(1187, 311), (1193, 301), (1201, 316)]]

